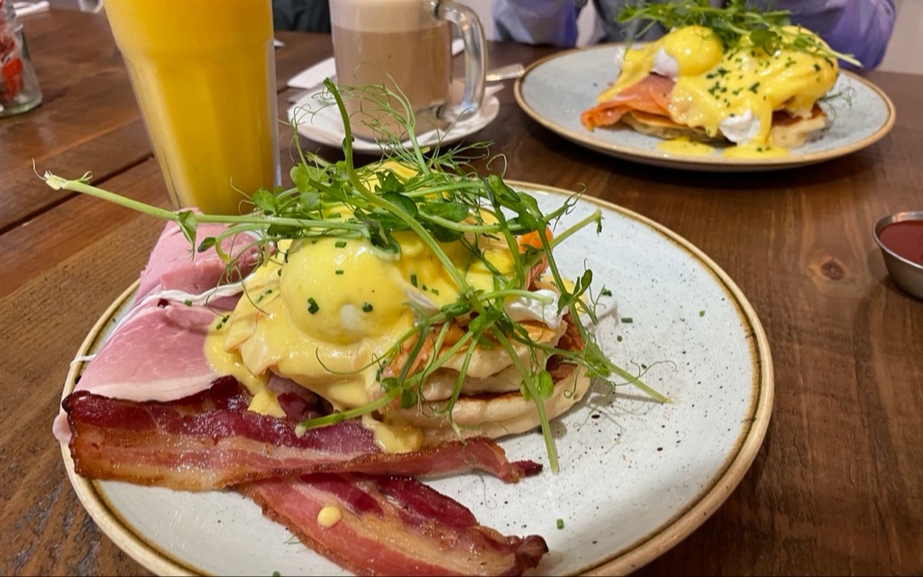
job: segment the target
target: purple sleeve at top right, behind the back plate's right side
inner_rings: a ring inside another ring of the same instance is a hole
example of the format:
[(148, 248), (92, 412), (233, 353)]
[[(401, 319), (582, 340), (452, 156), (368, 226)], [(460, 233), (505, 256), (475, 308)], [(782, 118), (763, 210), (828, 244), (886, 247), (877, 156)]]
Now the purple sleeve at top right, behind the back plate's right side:
[(778, 0), (774, 7), (865, 68), (881, 64), (894, 30), (894, 0)]

